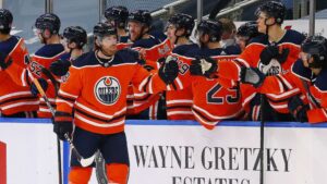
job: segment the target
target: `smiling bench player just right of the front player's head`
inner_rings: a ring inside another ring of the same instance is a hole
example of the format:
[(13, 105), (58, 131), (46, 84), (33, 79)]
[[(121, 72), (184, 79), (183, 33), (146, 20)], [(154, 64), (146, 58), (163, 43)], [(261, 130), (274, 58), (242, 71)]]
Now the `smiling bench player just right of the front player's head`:
[[(130, 13), (128, 25), (130, 39), (133, 41), (131, 48), (142, 53), (144, 59), (141, 64), (147, 70), (157, 70), (160, 66), (157, 61), (170, 53), (172, 45), (169, 39), (161, 42), (158, 38), (149, 35), (152, 22), (153, 19), (148, 11), (136, 10)], [(133, 95), (130, 94), (132, 96), (130, 100), (133, 101), (133, 106), (130, 106), (131, 111), (129, 112), (136, 115), (130, 116), (131, 119), (166, 119), (164, 95), (142, 93), (135, 87), (132, 90)]]

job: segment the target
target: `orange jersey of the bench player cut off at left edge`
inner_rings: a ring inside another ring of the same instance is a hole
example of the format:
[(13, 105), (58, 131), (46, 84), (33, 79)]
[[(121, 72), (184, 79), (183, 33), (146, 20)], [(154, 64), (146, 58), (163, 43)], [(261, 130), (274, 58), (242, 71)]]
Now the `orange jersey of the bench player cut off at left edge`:
[[(11, 36), (8, 40), (0, 42), (2, 54), (7, 54), (7, 60), (13, 61), (12, 65), (26, 68), (29, 63), (28, 51), (24, 45), (24, 39)], [(0, 110), (2, 114), (11, 115), (17, 112), (36, 111), (38, 99), (33, 97), (29, 87), (17, 85), (14, 79), (20, 75), (10, 75), (10, 65), (5, 71), (0, 71)]]

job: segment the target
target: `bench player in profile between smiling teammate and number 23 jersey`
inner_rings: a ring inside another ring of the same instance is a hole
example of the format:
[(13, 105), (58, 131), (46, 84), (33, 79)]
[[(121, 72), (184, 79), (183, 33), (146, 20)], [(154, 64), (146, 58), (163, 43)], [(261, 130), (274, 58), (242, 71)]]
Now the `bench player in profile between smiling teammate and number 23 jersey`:
[[(185, 57), (189, 50), (198, 49), (198, 45), (190, 40), (194, 27), (191, 15), (177, 13), (168, 20), (167, 37), (174, 42), (171, 56)], [(179, 60), (180, 74), (189, 72), (190, 65)], [(190, 78), (189, 78), (190, 79)], [(182, 90), (166, 91), (168, 120), (195, 120), (191, 107), (193, 103), (192, 86)]]

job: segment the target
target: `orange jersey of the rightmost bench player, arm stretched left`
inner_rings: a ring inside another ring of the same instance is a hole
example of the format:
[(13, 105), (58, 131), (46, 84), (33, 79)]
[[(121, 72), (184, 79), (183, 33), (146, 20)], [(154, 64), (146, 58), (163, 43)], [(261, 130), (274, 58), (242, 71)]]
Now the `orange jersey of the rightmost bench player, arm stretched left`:
[(259, 87), (263, 94), (284, 95), (288, 88), (301, 91), (301, 99), (310, 105), (307, 118), (310, 123), (327, 122), (327, 70), (315, 76), (310, 69), (298, 60), (290, 72), (268, 76)]

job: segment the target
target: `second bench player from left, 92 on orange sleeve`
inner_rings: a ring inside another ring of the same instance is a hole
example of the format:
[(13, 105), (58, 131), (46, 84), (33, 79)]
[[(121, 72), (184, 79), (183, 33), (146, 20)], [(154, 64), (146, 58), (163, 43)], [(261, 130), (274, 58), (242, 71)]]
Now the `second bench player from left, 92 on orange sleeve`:
[[(53, 107), (58, 84), (49, 72), (49, 66), (64, 53), (64, 47), (60, 44), (59, 29), (60, 19), (53, 13), (46, 13), (36, 19), (34, 32), (44, 46), (32, 56), (28, 66), (28, 72), (33, 74), (33, 77), (39, 78), (38, 81)], [(38, 94), (34, 84), (32, 84), (32, 93)], [(52, 115), (45, 100), (43, 98), (39, 99), (38, 116), (51, 118)]]

